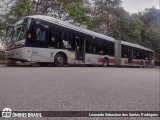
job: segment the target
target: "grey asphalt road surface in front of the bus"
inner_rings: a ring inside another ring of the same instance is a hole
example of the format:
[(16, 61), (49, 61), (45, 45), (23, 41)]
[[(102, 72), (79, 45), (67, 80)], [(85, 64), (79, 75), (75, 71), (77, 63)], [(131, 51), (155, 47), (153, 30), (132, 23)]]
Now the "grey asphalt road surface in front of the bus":
[[(0, 67), (0, 111), (158, 111), (159, 103), (157, 68)], [(138, 120), (150, 119), (159, 118)]]

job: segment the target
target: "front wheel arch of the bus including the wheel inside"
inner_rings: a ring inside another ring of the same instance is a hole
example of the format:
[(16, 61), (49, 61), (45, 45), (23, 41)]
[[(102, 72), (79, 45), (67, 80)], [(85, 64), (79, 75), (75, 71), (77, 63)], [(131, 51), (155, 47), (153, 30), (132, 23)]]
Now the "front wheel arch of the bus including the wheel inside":
[(56, 53), (55, 58), (54, 58), (54, 64), (57, 67), (62, 67), (64, 65), (66, 65), (67, 61), (68, 61), (67, 55), (64, 52)]

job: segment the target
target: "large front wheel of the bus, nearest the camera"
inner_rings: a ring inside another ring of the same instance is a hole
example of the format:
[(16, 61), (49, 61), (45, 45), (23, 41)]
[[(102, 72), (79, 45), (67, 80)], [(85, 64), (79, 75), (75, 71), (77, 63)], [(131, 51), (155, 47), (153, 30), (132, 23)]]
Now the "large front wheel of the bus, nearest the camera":
[(62, 67), (65, 65), (65, 56), (61, 53), (57, 54), (55, 59), (54, 59), (54, 63), (57, 67)]

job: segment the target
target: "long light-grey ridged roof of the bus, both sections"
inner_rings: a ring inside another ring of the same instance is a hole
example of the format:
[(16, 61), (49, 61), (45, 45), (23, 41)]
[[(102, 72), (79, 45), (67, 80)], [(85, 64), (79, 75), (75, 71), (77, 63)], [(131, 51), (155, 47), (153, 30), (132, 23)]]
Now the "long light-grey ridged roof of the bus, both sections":
[[(93, 31), (85, 29), (85, 28), (74, 26), (74, 25), (72, 25), (68, 22), (56, 19), (54, 17), (45, 16), (45, 15), (32, 15), (32, 16), (27, 16), (27, 17), (35, 18), (35, 19), (41, 19), (41, 20), (44, 20), (44, 21), (47, 21), (47, 22), (50, 22), (50, 23), (60, 25), (62, 27), (66, 27), (66, 28), (69, 28), (69, 29), (76, 30), (78, 32), (82, 32), (82, 33), (94, 36), (94, 37), (98, 37), (98, 38), (102, 38), (104, 40), (115, 42), (115, 39), (112, 38), (112, 37), (109, 37), (109, 36), (106, 36), (106, 35), (103, 35), (103, 34), (100, 34), (100, 33), (96, 33), (96, 32), (93, 32)], [(126, 41), (122, 41), (121, 44), (153, 52), (152, 50), (150, 50), (146, 47), (143, 47), (143, 46), (140, 46), (140, 45), (137, 45), (137, 44), (133, 44), (133, 43), (129, 43), (129, 42), (126, 42)]]

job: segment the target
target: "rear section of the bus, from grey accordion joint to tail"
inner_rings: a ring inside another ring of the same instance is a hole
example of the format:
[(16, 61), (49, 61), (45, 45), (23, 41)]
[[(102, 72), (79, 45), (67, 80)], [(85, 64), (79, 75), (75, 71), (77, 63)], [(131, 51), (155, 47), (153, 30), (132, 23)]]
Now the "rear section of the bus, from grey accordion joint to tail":
[(116, 41), (115, 53), (115, 59), (117, 59), (118, 65), (135, 67), (154, 66), (154, 51), (143, 46), (124, 41)]

